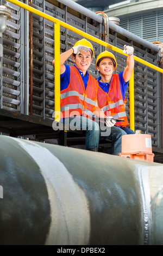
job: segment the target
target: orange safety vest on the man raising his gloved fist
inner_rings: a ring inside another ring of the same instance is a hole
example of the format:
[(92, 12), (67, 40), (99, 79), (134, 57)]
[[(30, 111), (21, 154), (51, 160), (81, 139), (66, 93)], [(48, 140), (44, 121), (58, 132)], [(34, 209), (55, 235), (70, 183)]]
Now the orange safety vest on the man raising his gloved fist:
[(124, 122), (117, 122), (117, 126), (127, 126), (128, 120), (126, 116), (126, 97), (122, 97), (120, 80), (117, 74), (112, 75), (108, 94), (101, 87), (98, 87), (97, 93), (98, 106), (102, 109), (106, 116), (111, 115), (114, 118), (123, 119)]

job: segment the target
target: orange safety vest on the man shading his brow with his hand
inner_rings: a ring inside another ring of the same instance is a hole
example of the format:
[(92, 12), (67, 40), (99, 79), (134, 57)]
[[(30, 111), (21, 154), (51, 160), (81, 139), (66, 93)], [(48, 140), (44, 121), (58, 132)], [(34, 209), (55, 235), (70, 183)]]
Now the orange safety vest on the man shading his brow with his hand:
[(87, 87), (79, 71), (70, 66), (70, 83), (68, 87), (60, 92), (60, 108), (62, 117), (72, 117), (73, 115), (83, 115), (92, 118), (95, 114), (97, 101), (98, 82), (89, 74)]

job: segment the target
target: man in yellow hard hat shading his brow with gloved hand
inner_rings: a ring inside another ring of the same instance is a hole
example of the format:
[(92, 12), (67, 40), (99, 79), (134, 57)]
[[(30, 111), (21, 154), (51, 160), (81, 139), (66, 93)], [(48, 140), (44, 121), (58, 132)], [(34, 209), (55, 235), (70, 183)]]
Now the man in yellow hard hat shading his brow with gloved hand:
[[(65, 64), (71, 55), (73, 66)], [(60, 107), (66, 126), (86, 131), (86, 150), (98, 151), (100, 128), (93, 116), (106, 116), (97, 105), (98, 82), (87, 72), (93, 56), (93, 46), (86, 39), (77, 41), (70, 50), (60, 54)], [(114, 125), (110, 120), (105, 124)]]

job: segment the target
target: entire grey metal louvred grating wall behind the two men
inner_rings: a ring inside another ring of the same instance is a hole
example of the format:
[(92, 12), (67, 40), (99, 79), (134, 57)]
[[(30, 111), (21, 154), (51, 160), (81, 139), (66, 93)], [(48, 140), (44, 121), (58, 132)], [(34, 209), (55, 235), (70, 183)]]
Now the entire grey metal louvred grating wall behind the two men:
[[(26, 38), (26, 34), (30, 35), (29, 17), (26, 16), (26, 11), (20, 10), (16, 5), (10, 4), (9, 2), (7, 3), (12, 11), (12, 19), (8, 21), (8, 28), (3, 34), (3, 106), (1, 108), (26, 114), (30, 110), (30, 84), (27, 84), (28, 79), (24, 79), (24, 77), (30, 78), (30, 47), (29, 51), (26, 51), (23, 40)], [(101, 33), (104, 33), (104, 25), (96, 20), (92, 20), (84, 13), (78, 13), (78, 11), (67, 7), (59, 1), (36, 0), (33, 1), (33, 7), (102, 39)], [(162, 22), (161, 15), (161, 13), (158, 14), (158, 22), (160, 24)], [(24, 19), (26, 17), (28, 17), (27, 20)], [(147, 15), (146, 17), (144, 16), (144, 19), (141, 17), (141, 22), (142, 20), (144, 24), (148, 24)], [(139, 28), (139, 33), (142, 33), (140, 31), (140, 20), (138, 17), (136, 22), (132, 18), (130, 18), (130, 21), (130, 29), (133, 29), (132, 32), (136, 34), (135, 29), (137, 27)], [(124, 21), (123, 24), (126, 29), (129, 28), (128, 22)], [(147, 34), (148, 29), (144, 29), (143, 32)], [(161, 32), (159, 36), (161, 36)], [(82, 36), (61, 27), (60, 51), (64, 52), (68, 50), (81, 38)], [(154, 62), (157, 65), (157, 52), (120, 34), (118, 29), (117, 31), (116, 29), (109, 29), (109, 43), (121, 49), (123, 49), (124, 44), (133, 45), (135, 56), (151, 63)], [(92, 45), (95, 51), (95, 57), (93, 57), (89, 72), (97, 78), (99, 74), (95, 68), (96, 57), (105, 49), (95, 42), (92, 42)], [(112, 53), (115, 54), (118, 63), (116, 72), (121, 72), (126, 66), (126, 57), (115, 52)], [(29, 60), (29, 63), (23, 62), (24, 57)], [(33, 15), (33, 116), (49, 120), (53, 120), (52, 115), (54, 112), (53, 59), (54, 23)], [(67, 64), (73, 64), (72, 57), (67, 60)], [(160, 74), (135, 62), (134, 82), (135, 129), (141, 130), (142, 133), (151, 134), (152, 144), (155, 147), (160, 147)], [(27, 90), (28, 87), (29, 91)], [(129, 120), (129, 87), (127, 88), (126, 97), (126, 111)], [(24, 106), (27, 106), (27, 112), (24, 111)]]

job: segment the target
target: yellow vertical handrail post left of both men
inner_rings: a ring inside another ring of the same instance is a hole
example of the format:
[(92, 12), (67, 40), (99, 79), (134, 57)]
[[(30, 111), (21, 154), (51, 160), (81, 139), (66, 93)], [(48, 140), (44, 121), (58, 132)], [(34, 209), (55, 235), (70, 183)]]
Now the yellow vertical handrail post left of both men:
[(60, 121), (60, 23), (54, 23), (54, 118)]

